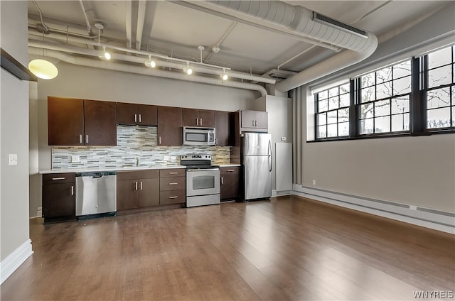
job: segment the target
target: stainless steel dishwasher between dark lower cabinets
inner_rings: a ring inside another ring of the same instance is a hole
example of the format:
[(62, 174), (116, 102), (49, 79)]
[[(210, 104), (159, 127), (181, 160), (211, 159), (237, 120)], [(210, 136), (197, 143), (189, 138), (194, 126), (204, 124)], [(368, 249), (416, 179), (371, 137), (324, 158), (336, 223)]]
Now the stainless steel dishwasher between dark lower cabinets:
[(114, 171), (76, 173), (76, 216), (117, 212), (117, 174)]

